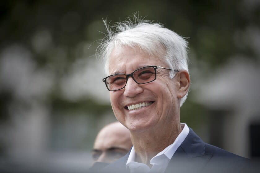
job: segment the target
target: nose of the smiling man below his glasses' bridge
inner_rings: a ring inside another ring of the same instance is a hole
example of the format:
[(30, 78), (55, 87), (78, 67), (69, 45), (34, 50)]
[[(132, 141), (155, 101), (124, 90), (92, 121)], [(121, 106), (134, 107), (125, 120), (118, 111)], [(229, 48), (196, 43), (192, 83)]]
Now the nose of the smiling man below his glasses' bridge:
[(124, 88), (124, 96), (126, 97), (135, 97), (139, 93), (143, 92), (143, 88), (133, 80), (133, 78), (129, 77)]

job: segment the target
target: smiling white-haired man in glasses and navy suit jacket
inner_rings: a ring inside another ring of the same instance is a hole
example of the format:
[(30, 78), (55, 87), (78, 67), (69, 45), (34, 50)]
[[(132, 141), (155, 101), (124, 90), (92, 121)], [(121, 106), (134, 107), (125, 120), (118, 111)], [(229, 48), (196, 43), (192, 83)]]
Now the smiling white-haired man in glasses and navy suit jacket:
[(106, 28), (107, 38), (99, 47), (108, 75), (103, 82), (117, 120), (130, 130), (133, 147), (102, 171), (234, 171), (234, 162), (226, 164), (223, 158), (236, 163), (245, 158), (204, 143), (180, 124), (190, 86), (187, 41), (136, 16)]

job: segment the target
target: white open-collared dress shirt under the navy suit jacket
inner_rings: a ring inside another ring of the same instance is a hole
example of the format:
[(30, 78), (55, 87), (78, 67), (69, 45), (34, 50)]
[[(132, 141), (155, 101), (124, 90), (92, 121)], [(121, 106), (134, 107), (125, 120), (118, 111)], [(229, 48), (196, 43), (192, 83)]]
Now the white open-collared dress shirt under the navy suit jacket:
[(166, 167), (168, 166), (168, 163), (170, 162), (171, 157), (173, 156), (173, 154), (175, 153), (177, 148), (179, 148), (179, 146), (181, 145), (181, 143), (184, 141), (184, 139), (187, 137), (187, 135), (189, 133), (189, 128), (188, 128), (187, 124), (182, 123), (180, 125), (182, 128), (182, 131), (178, 135), (178, 137), (175, 139), (175, 141), (150, 160), (150, 164), (153, 165), (151, 167), (151, 169), (144, 163), (135, 162), (136, 153), (135, 153), (134, 147), (132, 147), (132, 150), (130, 151), (128, 160), (126, 162), (126, 167), (128, 169), (130, 169), (130, 172), (131, 173), (137, 173), (137, 172), (163, 173), (165, 171)]

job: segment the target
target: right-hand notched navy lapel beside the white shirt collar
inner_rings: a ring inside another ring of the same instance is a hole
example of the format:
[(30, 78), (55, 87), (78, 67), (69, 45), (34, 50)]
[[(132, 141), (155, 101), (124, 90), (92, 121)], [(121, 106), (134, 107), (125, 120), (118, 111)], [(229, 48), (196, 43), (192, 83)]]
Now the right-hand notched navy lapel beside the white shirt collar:
[(188, 136), (175, 151), (165, 173), (200, 172), (212, 157), (212, 154), (205, 154), (205, 143), (189, 129)]

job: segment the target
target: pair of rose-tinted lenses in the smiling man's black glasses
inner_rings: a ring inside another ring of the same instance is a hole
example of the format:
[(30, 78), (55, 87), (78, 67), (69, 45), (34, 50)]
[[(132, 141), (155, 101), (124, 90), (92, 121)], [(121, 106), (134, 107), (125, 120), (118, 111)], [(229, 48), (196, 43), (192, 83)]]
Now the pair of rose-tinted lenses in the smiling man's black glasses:
[[(156, 78), (154, 67), (145, 67), (132, 73), (132, 78), (139, 84), (152, 82)], [(127, 82), (125, 74), (115, 74), (106, 78), (106, 85), (111, 91), (124, 88)]]

